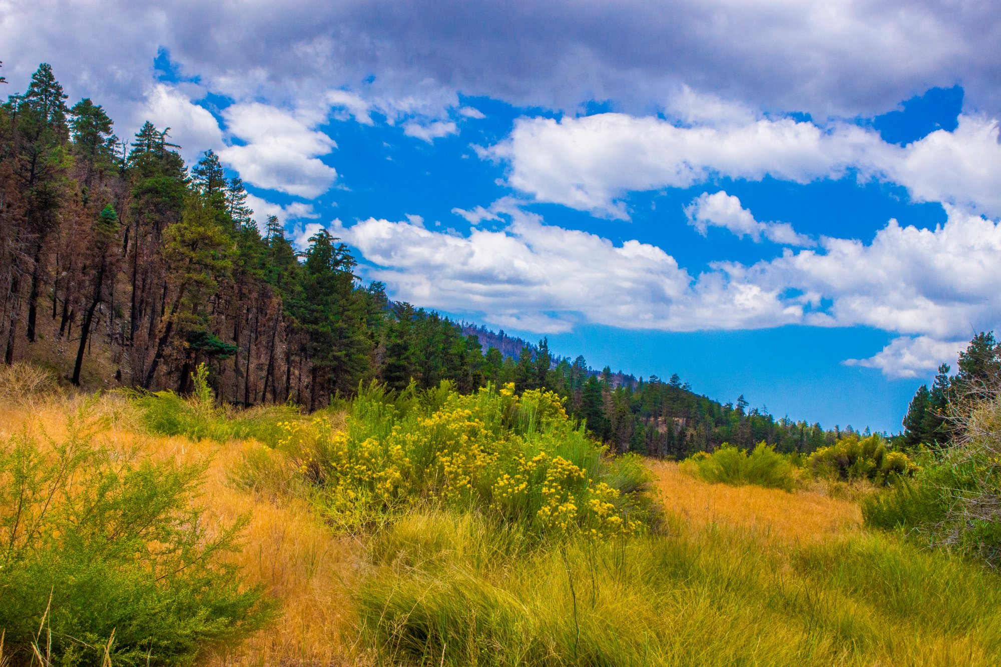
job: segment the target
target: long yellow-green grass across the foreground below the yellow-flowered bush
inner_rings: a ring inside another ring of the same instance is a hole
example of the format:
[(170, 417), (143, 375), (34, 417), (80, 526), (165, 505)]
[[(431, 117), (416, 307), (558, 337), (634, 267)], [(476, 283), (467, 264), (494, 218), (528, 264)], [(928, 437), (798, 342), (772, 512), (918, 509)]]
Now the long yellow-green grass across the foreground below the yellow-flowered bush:
[(377, 535), (357, 592), (385, 665), (996, 665), (996, 575), (884, 536), (710, 527), (533, 548), (484, 517)]

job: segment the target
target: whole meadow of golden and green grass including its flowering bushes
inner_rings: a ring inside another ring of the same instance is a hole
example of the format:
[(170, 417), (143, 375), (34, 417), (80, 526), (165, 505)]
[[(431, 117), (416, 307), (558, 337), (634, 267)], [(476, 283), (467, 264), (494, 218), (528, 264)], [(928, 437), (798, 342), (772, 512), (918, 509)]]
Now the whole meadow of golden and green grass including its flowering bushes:
[(546, 392), (306, 417), (5, 373), (0, 664), (1001, 662), (1001, 578), (867, 528), (871, 488), (612, 457)]

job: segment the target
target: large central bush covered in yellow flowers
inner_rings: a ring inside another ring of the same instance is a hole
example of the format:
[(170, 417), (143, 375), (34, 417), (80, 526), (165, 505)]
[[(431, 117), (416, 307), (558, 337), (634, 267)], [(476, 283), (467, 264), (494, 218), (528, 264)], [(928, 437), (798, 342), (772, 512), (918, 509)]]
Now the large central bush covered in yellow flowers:
[(613, 459), (568, 418), (561, 399), (514, 385), (461, 396), (448, 383), (392, 397), (372, 386), (343, 430), (325, 416), (286, 424), (279, 449), (345, 531), (383, 525), (425, 501), (477, 509), (539, 534), (635, 533), (650, 519), (647, 472)]

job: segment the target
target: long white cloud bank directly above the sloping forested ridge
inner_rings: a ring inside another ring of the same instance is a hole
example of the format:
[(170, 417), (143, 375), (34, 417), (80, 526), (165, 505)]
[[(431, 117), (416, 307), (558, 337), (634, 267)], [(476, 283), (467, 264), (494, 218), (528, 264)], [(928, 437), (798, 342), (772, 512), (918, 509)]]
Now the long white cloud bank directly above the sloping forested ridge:
[[(791, 323), (802, 306), (730, 279), (722, 271), (693, 278), (664, 250), (637, 240), (621, 245), (585, 231), (547, 225), (510, 202), (490, 212), (500, 230), (469, 236), (413, 221), (339, 222), (344, 238), (375, 266), (395, 298), (449, 311), (484, 313), (505, 325), (567, 330), (574, 322), (695, 330)], [(507, 325), (515, 325), (509, 323)]]

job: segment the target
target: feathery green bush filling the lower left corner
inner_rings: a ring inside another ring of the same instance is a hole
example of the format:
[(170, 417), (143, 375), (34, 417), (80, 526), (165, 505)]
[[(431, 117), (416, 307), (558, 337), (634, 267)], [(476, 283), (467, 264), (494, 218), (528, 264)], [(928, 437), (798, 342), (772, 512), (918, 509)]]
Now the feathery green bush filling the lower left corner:
[(261, 627), (271, 603), (225, 562), (245, 521), (209, 528), (191, 506), (202, 467), (96, 442), (88, 408), (64, 440), (22, 431), (0, 444), (4, 655), (186, 663)]

